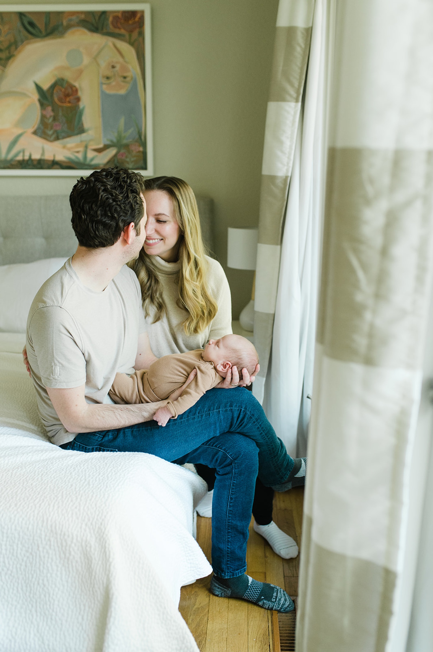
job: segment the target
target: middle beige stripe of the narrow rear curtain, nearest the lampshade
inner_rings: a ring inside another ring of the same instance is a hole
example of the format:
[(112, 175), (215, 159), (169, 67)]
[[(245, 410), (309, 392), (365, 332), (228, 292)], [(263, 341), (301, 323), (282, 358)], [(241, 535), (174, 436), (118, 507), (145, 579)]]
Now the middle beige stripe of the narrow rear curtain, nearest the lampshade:
[(288, 182), (290, 177), (263, 174), (260, 186), (260, 222), (258, 223), (258, 242), (280, 244)]

